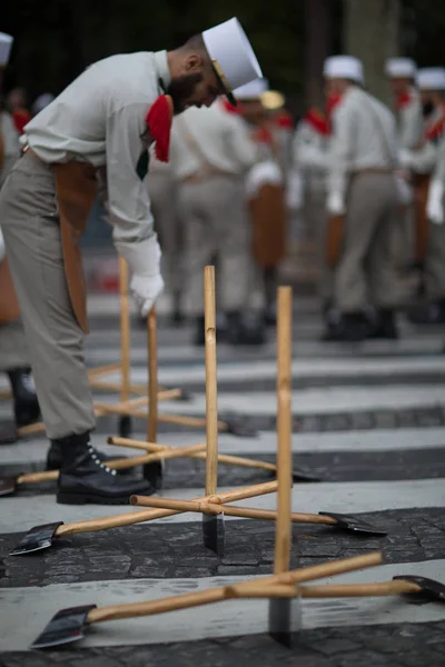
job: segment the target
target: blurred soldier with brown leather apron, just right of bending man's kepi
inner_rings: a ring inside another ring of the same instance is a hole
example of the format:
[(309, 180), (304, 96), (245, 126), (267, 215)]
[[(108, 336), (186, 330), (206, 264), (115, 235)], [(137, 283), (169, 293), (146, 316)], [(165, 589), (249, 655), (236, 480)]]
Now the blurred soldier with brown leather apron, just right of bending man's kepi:
[[(240, 112), (256, 147), (256, 166), (246, 181), (250, 202), (254, 261), (264, 295), (264, 320), (276, 322), (276, 290), (279, 262), (286, 255), (287, 215), (285, 173), (288, 147), (279, 125), (263, 106), (266, 79), (251, 81), (235, 91)], [(288, 133), (286, 135), (288, 137)]]

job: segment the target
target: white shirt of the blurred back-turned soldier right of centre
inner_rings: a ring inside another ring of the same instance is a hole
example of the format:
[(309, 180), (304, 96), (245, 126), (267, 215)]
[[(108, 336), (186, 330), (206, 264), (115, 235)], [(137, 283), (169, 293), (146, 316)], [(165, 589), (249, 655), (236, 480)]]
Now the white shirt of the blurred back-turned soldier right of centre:
[(344, 197), (349, 173), (395, 167), (396, 136), (389, 109), (364, 90), (349, 88), (333, 112), (328, 191)]

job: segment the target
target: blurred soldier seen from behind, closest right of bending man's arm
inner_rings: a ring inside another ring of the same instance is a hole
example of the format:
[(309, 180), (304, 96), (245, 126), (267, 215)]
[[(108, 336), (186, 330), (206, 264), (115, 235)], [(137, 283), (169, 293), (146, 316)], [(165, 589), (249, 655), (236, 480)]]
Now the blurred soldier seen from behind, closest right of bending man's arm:
[(188, 109), (174, 121), (170, 165), (178, 186), (185, 231), (187, 312), (196, 320), (195, 344), (204, 345), (204, 267), (216, 258), (218, 310), (231, 345), (264, 342), (259, 323), (246, 318), (251, 285), (250, 229), (244, 178), (255, 146), (236, 113), (222, 102)]

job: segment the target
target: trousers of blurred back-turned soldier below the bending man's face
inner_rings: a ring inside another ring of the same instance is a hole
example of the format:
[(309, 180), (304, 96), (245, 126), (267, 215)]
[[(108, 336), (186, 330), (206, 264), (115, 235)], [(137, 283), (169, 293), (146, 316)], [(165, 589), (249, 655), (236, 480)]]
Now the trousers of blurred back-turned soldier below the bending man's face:
[(247, 306), (251, 283), (250, 221), (244, 185), (237, 177), (212, 176), (184, 182), (178, 192), (185, 230), (187, 311), (204, 313), (204, 267), (217, 262), (218, 310)]

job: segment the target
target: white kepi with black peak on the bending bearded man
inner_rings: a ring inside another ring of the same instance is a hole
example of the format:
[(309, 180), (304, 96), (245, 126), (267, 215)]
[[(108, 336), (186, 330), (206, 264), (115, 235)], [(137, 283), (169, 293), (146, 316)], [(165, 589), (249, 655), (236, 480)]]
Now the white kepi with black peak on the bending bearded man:
[(205, 30), (202, 39), (220, 86), (236, 106), (233, 90), (263, 76), (254, 49), (236, 18)]

